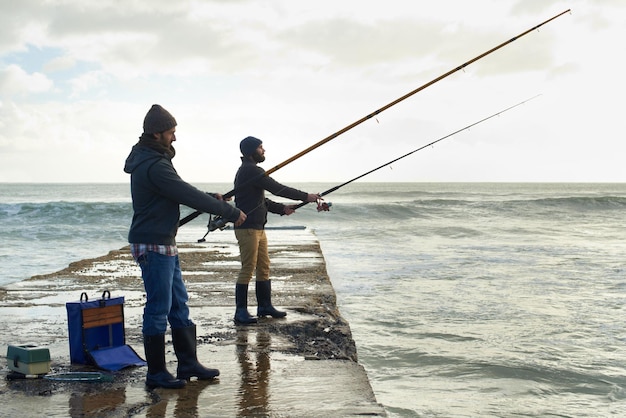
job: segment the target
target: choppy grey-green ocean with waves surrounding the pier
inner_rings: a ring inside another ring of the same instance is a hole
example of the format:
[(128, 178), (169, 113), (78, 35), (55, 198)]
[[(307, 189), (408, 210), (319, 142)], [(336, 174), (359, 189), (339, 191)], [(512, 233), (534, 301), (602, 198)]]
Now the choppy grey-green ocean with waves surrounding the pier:
[[(355, 182), (326, 200), (268, 226), (317, 236), (390, 417), (626, 416), (626, 184)], [(0, 285), (126, 245), (131, 214), (127, 184), (0, 184)]]

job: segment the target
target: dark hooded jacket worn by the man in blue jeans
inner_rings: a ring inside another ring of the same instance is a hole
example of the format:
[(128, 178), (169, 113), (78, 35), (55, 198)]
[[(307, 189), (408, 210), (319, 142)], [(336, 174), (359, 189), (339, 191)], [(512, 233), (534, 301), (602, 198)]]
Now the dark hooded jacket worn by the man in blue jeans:
[(239, 210), (232, 205), (183, 181), (168, 153), (139, 143), (128, 155), (124, 171), (131, 175), (133, 198), (130, 243), (175, 245), (180, 204), (221, 215), (231, 222), (239, 218)]

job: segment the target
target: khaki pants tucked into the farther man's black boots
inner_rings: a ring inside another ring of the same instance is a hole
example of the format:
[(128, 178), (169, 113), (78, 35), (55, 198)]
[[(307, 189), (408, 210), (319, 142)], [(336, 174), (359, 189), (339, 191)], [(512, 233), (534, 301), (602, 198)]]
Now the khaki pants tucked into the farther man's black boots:
[(267, 237), (261, 229), (235, 229), (239, 243), (241, 270), (238, 284), (249, 284), (256, 269), (256, 280), (262, 282), (270, 278), (270, 256), (267, 252)]

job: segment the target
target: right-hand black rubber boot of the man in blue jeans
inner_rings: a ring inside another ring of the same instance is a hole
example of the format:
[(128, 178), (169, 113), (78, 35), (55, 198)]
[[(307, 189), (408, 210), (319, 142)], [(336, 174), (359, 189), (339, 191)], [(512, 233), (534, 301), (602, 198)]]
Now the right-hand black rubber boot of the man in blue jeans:
[(198, 380), (208, 380), (220, 375), (219, 370), (209, 369), (198, 362), (195, 325), (173, 328), (172, 343), (178, 358), (177, 378), (190, 380), (192, 377), (197, 377)]

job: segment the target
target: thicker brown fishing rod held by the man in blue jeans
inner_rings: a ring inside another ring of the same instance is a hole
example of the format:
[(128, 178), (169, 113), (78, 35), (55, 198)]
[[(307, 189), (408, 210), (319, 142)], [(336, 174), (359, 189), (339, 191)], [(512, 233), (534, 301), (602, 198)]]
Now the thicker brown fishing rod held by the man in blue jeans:
[[(371, 119), (371, 118), (375, 117), (376, 115), (380, 114), (381, 112), (384, 112), (385, 110), (389, 109), (390, 107), (395, 106), (396, 104), (398, 104), (398, 103), (400, 103), (401, 101), (403, 101), (403, 100), (405, 100), (405, 99), (407, 99), (407, 98), (409, 98), (409, 97), (413, 96), (414, 94), (416, 94), (416, 93), (418, 93), (418, 92), (420, 92), (420, 91), (424, 90), (425, 88), (427, 88), (427, 87), (429, 87), (429, 86), (432, 86), (433, 84), (435, 84), (435, 83), (437, 83), (437, 82), (439, 82), (439, 81), (443, 80), (444, 78), (446, 78), (446, 77), (450, 76), (451, 74), (454, 74), (454, 73), (456, 73), (457, 71), (460, 71), (460, 70), (465, 69), (465, 67), (467, 67), (468, 65), (470, 65), (470, 64), (472, 64), (472, 63), (474, 63), (474, 62), (476, 62), (476, 61), (480, 60), (481, 58), (486, 57), (487, 55), (489, 55), (489, 54), (493, 53), (494, 51), (497, 51), (497, 50), (498, 50), (498, 49), (500, 49), (500, 48), (503, 48), (504, 46), (506, 46), (506, 45), (508, 45), (508, 44), (510, 44), (510, 43), (512, 43), (512, 42), (514, 42), (514, 41), (516, 41), (517, 39), (519, 39), (519, 38), (521, 38), (521, 37), (523, 37), (523, 36), (527, 35), (528, 33), (532, 32), (532, 31), (534, 31), (534, 30), (536, 30), (536, 29), (539, 29), (541, 26), (543, 26), (543, 25), (545, 25), (545, 24), (547, 24), (547, 23), (549, 23), (549, 22), (553, 21), (554, 19), (556, 19), (556, 18), (558, 18), (558, 17), (560, 17), (560, 16), (562, 16), (562, 15), (564, 15), (564, 14), (568, 13), (568, 12), (571, 12), (571, 9), (567, 9), (567, 10), (565, 10), (565, 11), (563, 11), (563, 12), (561, 12), (561, 13), (559, 13), (559, 14), (555, 15), (555, 16), (551, 17), (550, 19), (547, 19), (547, 20), (545, 20), (545, 21), (543, 21), (543, 22), (539, 23), (538, 25), (533, 26), (532, 28), (525, 30), (524, 32), (520, 33), (519, 35), (514, 36), (513, 38), (511, 38), (511, 39), (509, 39), (509, 40), (507, 40), (507, 41), (502, 42), (501, 44), (499, 44), (499, 45), (497, 45), (497, 46), (495, 46), (495, 47), (493, 47), (493, 48), (489, 49), (488, 51), (485, 51), (485, 52), (483, 52), (482, 54), (477, 55), (476, 57), (474, 57), (474, 58), (472, 58), (471, 60), (469, 60), (469, 61), (467, 61), (467, 62), (465, 62), (465, 63), (463, 63), (463, 64), (459, 65), (458, 67), (455, 67), (455, 68), (451, 69), (450, 71), (447, 71), (447, 72), (443, 73), (443, 74), (442, 74), (442, 75), (440, 75), (439, 77), (434, 78), (433, 80), (429, 81), (428, 83), (423, 84), (422, 86), (420, 86), (420, 87), (418, 87), (418, 88), (416, 88), (416, 89), (414, 89), (414, 90), (410, 91), (409, 93), (405, 94), (404, 96), (401, 96), (401, 97), (397, 98), (396, 100), (394, 100), (394, 101), (392, 101), (392, 102), (390, 102), (390, 103), (386, 104), (385, 106), (381, 107), (380, 109), (377, 109), (377, 110), (375, 110), (374, 112), (372, 112), (372, 113), (370, 113), (370, 114), (368, 114), (368, 115), (366, 115), (366, 116), (362, 117), (361, 119), (357, 120), (356, 122), (353, 122), (353, 123), (351, 123), (350, 125), (348, 125), (348, 126), (346, 126), (346, 127), (342, 128), (342, 129), (340, 129), (339, 131), (335, 132), (334, 134), (327, 136), (326, 138), (324, 138), (324, 139), (322, 139), (321, 141), (319, 141), (319, 142), (317, 142), (317, 143), (315, 143), (315, 144), (311, 145), (310, 147), (306, 148), (305, 150), (300, 151), (300, 152), (299, 152), (299, 153), (297, 153), (296, 155), (294, 155), (294, 156), (292, 156), (292, 157), (290, 157), (290, 158), (286, 159), (286, 160), (285, 160), (285, 161), (283, 161), (282, 163), (280, 163), (280, 164), (278, 164), (278, 165), (276, 165), (276, 166), (274, 166), (274, 167), (270, 168), (269, 170), (265, 171), (265, 173), (260, 174), (258, 177), (253, 177), (252, 179), (248, 180), (247, 182), (244, 182), (244, 184), (240, 185), (239, 187), (240, 187), (240, 188), (241, 188), (241, 187), (244, 187), (244, 186), (246, 186), (246, 185), (248, 185), (248, 184), (250, 184), (250, 183), (252, 183), (252, 182), (255, 182), (255, 181), (259, 180), (260, 178), (263, 178), (264, 176), (269, 176), (270, 174), (272, 174), (272, 173), (274, 173), (275, 171), (277, 171), (277, 170), (279, 170), (279, 169), (283, 168), (283, 167), (284, 167), (284, 166), (286, 166), (287, 164), (290, 164), (290, 163), (294, 162), (294, 161), (295, 161), (295, 160), (297, 160), (298, 158), (300, 158), (300, 157), (302, 157), (302, 156), (304, 156), (304, 155), (308, 154), (309, 152), (313, 151), (314, 149), (319, 148), (320, 146), (322, 146), (322, 145), (326, 144), (327, 142), (329, 142), (329, 141), (331, 141), (331, 140), (333, 140), (333, 139), (337, 138), (339, 135), (342, 135), (342, 134), (346, 133), (347, 131), (349, 131), (350, 129), (354, 128), (355, 126), (360, 125), (361, 123), (363, 123), (363, 122), (365, 122), (365, 121), (367, 121), (367, 120), (369, 120), (369, 119)], [(224, 195), (223, 195), (224, 199), (231, 198), (231, 197), (235, 194), (235, 191), (237, 191), (237, 188), (235, 188), (235, 189), (233, 189), (233, 190), (229, 191), (228, 193), (224, 194)], [(178, 225), (179, 225), (179, 226), (183, 226), (183, 225), (185, 225), (186, 223), (188, 223), (188, 222), (190, 222), (190, 221), (194, 220), (195, 218), (197, 218), (197, 217), (198, 217), (198, 216), (200, 216), (201, 214), (202, 214), (202, 212), (200, 212), (200, 211), (195, 211), (195, 212), (193, 212), (193, 213), (191, 213), (191, 214), (189, 214), (189, 215), (185, 216), (184, 218), (182, 218), (182, 219), (178, 222)]]

